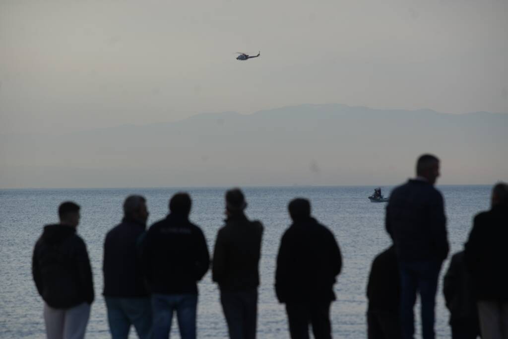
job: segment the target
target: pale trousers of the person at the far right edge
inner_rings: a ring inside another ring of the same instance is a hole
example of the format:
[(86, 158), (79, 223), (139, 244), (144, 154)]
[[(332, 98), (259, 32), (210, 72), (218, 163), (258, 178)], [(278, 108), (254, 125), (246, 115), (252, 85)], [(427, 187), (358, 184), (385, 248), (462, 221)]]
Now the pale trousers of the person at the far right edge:
[(478, 301), (483, 339), (508, 339), (508, 302)]

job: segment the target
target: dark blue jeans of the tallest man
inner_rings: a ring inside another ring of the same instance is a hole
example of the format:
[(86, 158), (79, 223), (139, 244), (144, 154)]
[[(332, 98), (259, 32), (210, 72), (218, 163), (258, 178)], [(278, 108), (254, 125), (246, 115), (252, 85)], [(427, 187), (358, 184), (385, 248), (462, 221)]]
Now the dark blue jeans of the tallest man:
[(422, 260), (399, 262), (400, 268), (400, 322), (402, 338), (412, 339), (415, 334), (414, 307), (416, 293), (420, 292), (422, 336), (434, 339), (434, 308), (436, 304), (437, 280), (442, 261)]

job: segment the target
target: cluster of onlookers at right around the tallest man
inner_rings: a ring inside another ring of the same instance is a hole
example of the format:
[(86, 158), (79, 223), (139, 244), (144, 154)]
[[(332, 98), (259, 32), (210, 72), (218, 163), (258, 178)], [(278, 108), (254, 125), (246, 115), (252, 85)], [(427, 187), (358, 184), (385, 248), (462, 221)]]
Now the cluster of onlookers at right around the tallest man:
[[(416, 178), (392, 191), (386, 230), (393, 245), (374, 259), (367, 285), (369, 339), (412, 339), (420, 295), (422, 337), (434, 339), (438, 277), (449, 252), (443, 198), (434, 188), (439, 159), (423, 155)], [(453, 339), (508, 339), (508, 185), (473, 220), (464, 250), (452, 257), (443, 294)]]

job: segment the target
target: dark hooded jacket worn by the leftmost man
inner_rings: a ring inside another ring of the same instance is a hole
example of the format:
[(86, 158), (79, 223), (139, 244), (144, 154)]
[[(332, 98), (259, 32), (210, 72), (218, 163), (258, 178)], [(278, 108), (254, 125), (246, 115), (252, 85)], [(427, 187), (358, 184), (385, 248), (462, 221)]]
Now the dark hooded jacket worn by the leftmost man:
[(93, 302), (93, 281), (86, 245), (76, 229), (47, 225), (37, 240), (32, 274), (39, 294), (55, 309)]

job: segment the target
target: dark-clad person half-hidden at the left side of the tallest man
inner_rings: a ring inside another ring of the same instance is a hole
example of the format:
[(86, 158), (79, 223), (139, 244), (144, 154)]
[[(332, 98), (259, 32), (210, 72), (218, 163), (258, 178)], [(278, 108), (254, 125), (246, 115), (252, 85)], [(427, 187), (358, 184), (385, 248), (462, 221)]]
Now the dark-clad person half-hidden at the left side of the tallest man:
[(377, 255), (367, 283), (368, 339), (399, 339), (400, 276), (395, 246)]

